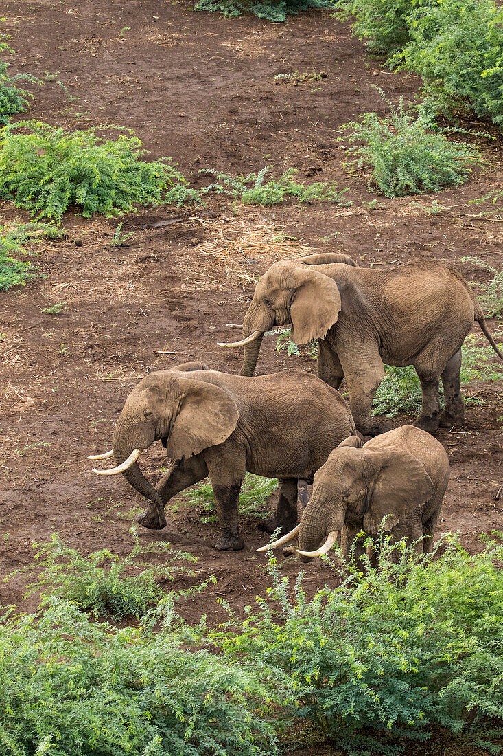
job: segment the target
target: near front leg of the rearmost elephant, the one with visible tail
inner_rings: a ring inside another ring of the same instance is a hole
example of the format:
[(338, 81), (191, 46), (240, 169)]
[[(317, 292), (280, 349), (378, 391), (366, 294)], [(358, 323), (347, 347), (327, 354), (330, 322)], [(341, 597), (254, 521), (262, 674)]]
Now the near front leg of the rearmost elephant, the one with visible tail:
[[(355, 365), (364, 365), (365, 371), (360, 367), (356, 372)], [(384, 364), (379, 353), (366, 354), (365, 359), (361, 355), (344, 355), (343, 366), (356, 428), (363, 435), (378, 435), (392, 430), (393, 423), (375, 420), (371, 414), (375, 392), (384, 378)]]

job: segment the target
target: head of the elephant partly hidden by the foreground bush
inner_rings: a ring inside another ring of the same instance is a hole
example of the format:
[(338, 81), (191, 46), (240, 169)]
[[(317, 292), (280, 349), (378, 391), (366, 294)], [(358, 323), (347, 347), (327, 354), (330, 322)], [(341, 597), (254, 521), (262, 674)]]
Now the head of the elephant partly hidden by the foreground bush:
[(345, 522), (363, 521), (363, 530), (389, 532), (400, 520), (422, 512), (434, 485), (421, 462), (397, 448), (358, 448), (351, 436), (334, 449), (314, 476), (313, 493), (302, 513), (298, 553), (302, 561), (332, 548)]

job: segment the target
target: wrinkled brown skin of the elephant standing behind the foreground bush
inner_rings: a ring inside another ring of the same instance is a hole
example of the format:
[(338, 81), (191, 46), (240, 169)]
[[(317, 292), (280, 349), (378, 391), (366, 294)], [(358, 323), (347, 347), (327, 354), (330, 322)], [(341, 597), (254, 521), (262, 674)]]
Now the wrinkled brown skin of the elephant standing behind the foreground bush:
[[(360, 448), (356, 436), (334, 449), (314, 476), (313, 493), (301, 517), (298, 548), (318, 549), (331, 531), (341, 531), (344, 559), (360, 531), (384, 531), (392, 541), (408, 538), (429, 553), (449, 482), (449, 460), (429, 433), (406, 425), (372, 438)], [(356, 557), (363, 553), (356, 541)], [(302, 561), (309, 557), (301, 556)]]

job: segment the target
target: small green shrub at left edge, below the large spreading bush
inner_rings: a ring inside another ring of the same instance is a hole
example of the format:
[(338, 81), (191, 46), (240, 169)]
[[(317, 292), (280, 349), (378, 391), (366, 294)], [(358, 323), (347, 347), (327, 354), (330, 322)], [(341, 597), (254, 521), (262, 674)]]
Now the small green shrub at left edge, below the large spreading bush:
[(51, 224), (24, 223), (14, 226), (0, 226), (0, 291), (7, 291), (18, 284), (25, 284), (35, 276), (35, 266), (12, 255), (25, 256), (29, 253), (21, 244), (38, 243), (44, 239), (58, 239), (64, 231)]

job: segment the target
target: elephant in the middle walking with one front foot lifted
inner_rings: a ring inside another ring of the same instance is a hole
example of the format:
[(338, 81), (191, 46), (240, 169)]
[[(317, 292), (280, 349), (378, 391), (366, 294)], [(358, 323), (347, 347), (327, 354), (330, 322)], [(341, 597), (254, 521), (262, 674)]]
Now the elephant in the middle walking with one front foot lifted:
[[(297, 521), (298, 479), (312, 480), (353, 433), (347, 402), (310, 373), (249, 378), (193, 362), (143, 378), (125, 401), (113, 450), (88, 458), (115, 458), (116, 467), (94, 472), (122, 472), (150, 500), (137, 522), (153, 530), (165, 527), (171, 497), (209, 475), (221, 531), (214, 547), (241, 550), (238, 503), (245, 472), (279, 479), (276, 515), (267, 529), (289, 531)], [(159, 439), (174, 463), (154, 488), (137, 458)]]

